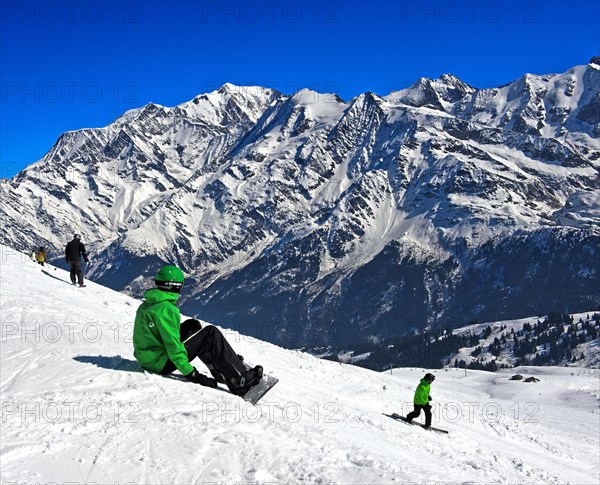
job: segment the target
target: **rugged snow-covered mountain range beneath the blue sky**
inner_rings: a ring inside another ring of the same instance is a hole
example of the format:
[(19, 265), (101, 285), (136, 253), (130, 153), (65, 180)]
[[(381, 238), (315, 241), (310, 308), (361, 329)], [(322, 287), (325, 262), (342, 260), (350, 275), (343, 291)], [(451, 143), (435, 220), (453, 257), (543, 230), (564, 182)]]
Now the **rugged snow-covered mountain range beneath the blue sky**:
[[(348, 102), (226, 84), (62, 135), (0, 182), (2, 241), (284, 345), (600, 307), (600, 59)], [(567, 307), (567, 308), (566, 308)]]

